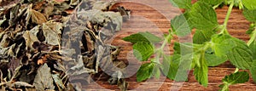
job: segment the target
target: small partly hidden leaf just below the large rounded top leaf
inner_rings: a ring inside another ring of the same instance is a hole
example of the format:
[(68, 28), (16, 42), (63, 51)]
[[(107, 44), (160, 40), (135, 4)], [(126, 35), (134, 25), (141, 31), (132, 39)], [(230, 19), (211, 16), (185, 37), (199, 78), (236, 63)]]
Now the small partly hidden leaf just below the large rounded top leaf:
[(209, 42), (211, 40), (212, 35), (214, 34), (215, 32), (212, 30), (196, 30), (193, 36), (193, 43), (202, 44), (205, 42)]

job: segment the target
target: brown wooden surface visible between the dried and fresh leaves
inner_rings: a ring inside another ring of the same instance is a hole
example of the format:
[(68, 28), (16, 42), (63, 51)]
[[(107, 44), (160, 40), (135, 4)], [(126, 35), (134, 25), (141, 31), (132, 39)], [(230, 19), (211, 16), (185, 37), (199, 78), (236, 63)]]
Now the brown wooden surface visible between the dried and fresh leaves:
[[(119, 54), (119, 60), (124, 60), (127, 63), (129, 62), (129, 65), (134, 66), (132, 67), (134, 70), (137, 71), (137, 68), (141, 64), (136, 60), (134, 57), (131, 57), (131, 51), (132, 46), (131, 43), (127, 43), (123, 40), (121, 40), (122, 37), (127, 37), (133, 33), (136, 33), (138, 31), (150, 31), (154, 34), (157, 34), (160, 36), (160, 33), (166, 33), (168, 29), (170, 29), (170, 19), (172, 19), (175, 15), (179, 14), (178, 9), (173, 8), (170, 6), (170, 3), (166, 3), (167, 0), (142, 0), (143, 2), (154, 2), (151, 6), (147, 6), (144, 3), (134, 3), (127, 2), (128, 0), (122, 1), (121, 3), (118, 3), (116, 6), (124, 6), (126, 9), (131, 9), (131, 20), (125, 22), (123, 25), (122, 31), (119, 31), (115, 37), (113, 37), (113, 40), (111, 43), (113, 45), (117, 45), (122, 48), (121, 53)], [(136, 1), (136, 0), (133, 0)], [(194, 0), (195, 1), (195, 0)], [(160, 7), (160, 9), (155, 9), (152, 7)], [(168, 7), (165, 7), (168, 6)], [(170, 9), (171, 8), (171, 9)], [(222, 9), (216, 9), (218, 14), (218, 22), (219, 24), (223, 24), (225, 14), (227, 12), (228, 7), (223, 7)], [(162, 14), (164, 12), (170, 12), (172, 13), (168, 14)], [(166, 16), (167, 17), (166, 17)], [(141, 16), (144, 18), (136, 17)], [(153, 23), (154, 25), (148, 23)], [(247, 31), (249, 27), (249, 22), (244, 19), (243, 15), (241, 14), (241, 10), (239, 9), (233, 9), (232, 14), (230, 15), (230, 20), (228, 24), (228, 30), (230, 31), (230, 34), (233, 37), (238, 37), (242, 40), (247, 41), (249, 37), (245, 34), (245, 31)], [(158, 28), (155, 28), (155, 27)], [(175, 37), (175, 41), (177, 41), (177, 37)], [(172, 41), (173, 43), (174, 41)], [(166, 47), (166, 53), (172, 54), (172, 45), (169, 45), (169, 47)], [(129, 58), (131, 57), (131, 58)], [(131, 73), (133, 71), (130, 71)], [(217, 67), (210, 67), (208, 71), (208, 80), (209, 84), (207, 88), (202, 87), (198, 82), (196, 82), (195, 77), (193, 76), (193, 71), (189, 72), (189, 81), (183, 83), (183, 87), (179, 90), (195, 90), (195, 91), (217, 91), (218, 85), (221, 84), (221, 80), (224, 78), (225, 75), (229, 75), (230, 73), (235, 71), (235, 67), (233, 65), (230, 65), (230, 62), (226, 62), (222, 65), (218, 65)], [(150, 82), (137, 82), (136, 81), (136, 74), (134, 74), (132, 77), (126, 78), (126, 81), (129, 82), (129, 89), (130, 90), (170, 90), (171, 87), (175, 86), (173, 84), (173, 81), (170, 79), (166, 79), (165, 77), (160, 77), (160, 79), (165, 79), (165, 82), (160, 82), (157, 79), (150, 79)], [(109, 90), (118, 90), (117, 86), (109, 85), (106, 81), (98, 81), (97, 84), (99, 84), (100, 87), (96, 87), (96, 84), (88, 84), (85, 85), (83, 88), (86, 90), (100, 90), (100, 89), (109, 89)], [(160, 86), (160, 88), (157, 87), (157, 85)], [(139, 88), (139, 89), (136, 89)], [(177, 90), (177, 88), (174, 88), (174, 90)], [(173, 90), (173, 89), (172, 89)], [(230, 86), (230, 91), (254, 91), (256, 90), (256, 85), (253, 83), (252, 78), (250, 78), (249, 82), (237, 84), (234, 86)]]

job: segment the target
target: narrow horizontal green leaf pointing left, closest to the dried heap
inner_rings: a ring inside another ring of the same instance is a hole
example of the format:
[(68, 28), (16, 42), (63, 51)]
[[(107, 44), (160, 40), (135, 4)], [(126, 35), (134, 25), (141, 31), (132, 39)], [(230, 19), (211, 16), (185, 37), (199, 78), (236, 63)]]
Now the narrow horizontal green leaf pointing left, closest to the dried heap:
[(132, 34), (129, 37), (124, 37), (123, 40), (131, 43), (137, 43), (137, 42), (159, 43), (162, 41), (160, 37), (156, 37), (148, 31)]

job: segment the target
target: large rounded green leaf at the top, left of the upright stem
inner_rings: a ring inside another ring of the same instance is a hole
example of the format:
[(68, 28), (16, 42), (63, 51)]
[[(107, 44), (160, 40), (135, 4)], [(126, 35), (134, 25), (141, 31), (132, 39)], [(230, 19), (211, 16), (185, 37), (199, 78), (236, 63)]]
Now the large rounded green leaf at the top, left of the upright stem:
[(193, 26), (199, 30), (213, 30), (218, 26), (217, 14), (212, 6), (201, 1), (193, 4), (189, 12), (189, 18), (191, 18)]

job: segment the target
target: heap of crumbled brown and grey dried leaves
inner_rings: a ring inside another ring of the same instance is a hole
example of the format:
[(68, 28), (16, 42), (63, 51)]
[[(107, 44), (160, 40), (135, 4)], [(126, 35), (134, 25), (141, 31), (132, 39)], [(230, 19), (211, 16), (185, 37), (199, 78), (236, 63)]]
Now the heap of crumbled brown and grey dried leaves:
[[(95, 0), (20, 0), (0, 8), (1, 90), (81, 90), (91, 76), (125, 90), (119, 47), (105, 42), (129, 10)], [(96, 74), (96, 75), (95, 75)], [(101, 75), (102, 76), (102, 75)], [(100, 78), (100, 77), (97, 77)]]

